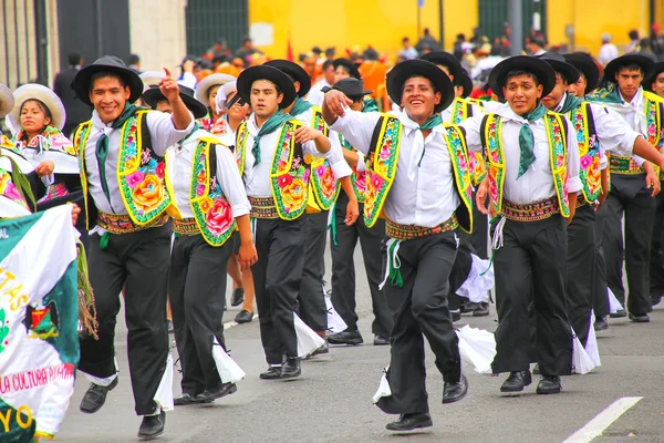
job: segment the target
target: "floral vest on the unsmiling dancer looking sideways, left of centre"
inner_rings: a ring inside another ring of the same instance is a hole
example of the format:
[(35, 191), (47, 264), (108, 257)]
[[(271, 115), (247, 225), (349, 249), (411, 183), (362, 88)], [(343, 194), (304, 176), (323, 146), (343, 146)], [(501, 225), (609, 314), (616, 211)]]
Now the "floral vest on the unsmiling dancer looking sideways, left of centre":
[[(302, 126), (301, 122), (291, 120), (283, 124), (277, 141), (277, 150), (270, 171), (270, 187), (279, 217), (284, 220), (294, 220), (307, 209), (309, 197), (309, 176), (311, 169), (304, 163), (302, 145), (295, 143), (295, 130)], [(247, 156), (247, 141), (249, 131), (247, 122), (238, 127), (236, 148), (238, 150), (238, 167), (240, 175), (245, 172)]]

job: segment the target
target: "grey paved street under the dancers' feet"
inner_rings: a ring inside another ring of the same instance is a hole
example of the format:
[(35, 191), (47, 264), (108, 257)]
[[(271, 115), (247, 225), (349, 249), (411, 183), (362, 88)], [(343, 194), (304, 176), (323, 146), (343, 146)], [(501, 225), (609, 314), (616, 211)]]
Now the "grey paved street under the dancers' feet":
[[(329, 256), (328, 256), (329, 257)], [(356, 256), (356, 264), (361, 262)], [(360, 327), (365, 344), (333, 348), (328, 357), (302, 363), (302, 377), (294, 381), (262, 381), (266, 369), (258, 322), (227, 330), (234, 359), (247, 372), (238, 392), (209, 405), (179, 406), (167, 414), (162, 442), (404, 442), (385, 431), (393, 416), (372, 405), (388, 362), (390, 348), (371, 344), (371, 300), (359, 275)], [(237, 310), (225, 316), (230, 321)], [(537, 395), (533, 384), (522, 395), (499, 392), (505, 375), (480, 375), (471, 368), (468, 396), (455, 404), (440, 403), (443, 378), (434, 358), (427, 353), (430, 412), (434, 426), (409, 434), (413, 442), (563, 442), (614, 401), (643, 396), (613, 422), (598, 443), (664, 442), (664, 307), (657, 306), (650, 324), (625, 319), (611, 320), (610, 329), (599, 333), (602, 367), (589, 375), (562, 379), (559, 395)], [(495, 309), (481, 319), (464, 317), (458, 323), (494, 330)], [(141, 422), (134, 412), (126, 360), (126, 332), (118, 321), (117, 360), (120, 384), (108, 394), (105, 406), (94, 415), (79, 411), (87, 388), (80, 377), (59, 442), (134, 442)], [(173, 340), (173, 336), (170, 336)], [(175, 352), (175, 350), (174, 350)], [(174, 353), (175, 357), (175, 353)], [(174, 393), (178, 394), (176, 373)], [(588, 440), (578, 440), (588, 441)]]

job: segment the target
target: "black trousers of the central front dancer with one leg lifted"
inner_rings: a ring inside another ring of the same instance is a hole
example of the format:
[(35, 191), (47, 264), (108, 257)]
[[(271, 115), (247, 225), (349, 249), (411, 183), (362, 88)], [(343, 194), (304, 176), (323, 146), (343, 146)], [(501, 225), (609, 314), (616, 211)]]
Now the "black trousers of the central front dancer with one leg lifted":
[(454, 233), (440, 233), (402, 241), (398, 249), (403, 287), (384, 286), (394, 312), (392, 358), (387, 381), (392, 395), (377, 405), (388, 414), (428, 412), (424, 337), (445, 381), (461, 377), (458, 338), (447, 307), (449, 271), (456, 256)]

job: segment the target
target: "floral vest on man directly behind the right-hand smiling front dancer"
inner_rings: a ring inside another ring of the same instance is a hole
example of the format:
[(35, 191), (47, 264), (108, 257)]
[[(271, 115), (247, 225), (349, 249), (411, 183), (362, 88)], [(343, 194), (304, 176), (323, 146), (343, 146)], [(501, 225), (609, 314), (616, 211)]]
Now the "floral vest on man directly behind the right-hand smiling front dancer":
[(581, 103), (568, 113), (574, 126), (579, 142), (579, 158), (581, 167), (579, 177), (583, 184), (583, 196), (588, 203), (593, 203), (602, 192), (600, 166), (600, 141), (594, 127), (594, 117), (589, 102)]

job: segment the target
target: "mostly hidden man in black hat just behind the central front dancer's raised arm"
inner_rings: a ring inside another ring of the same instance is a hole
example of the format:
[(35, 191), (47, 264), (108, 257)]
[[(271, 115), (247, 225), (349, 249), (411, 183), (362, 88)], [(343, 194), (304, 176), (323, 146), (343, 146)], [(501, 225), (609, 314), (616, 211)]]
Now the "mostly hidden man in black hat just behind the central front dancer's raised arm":
[[(364, 96), (372, 92), (364, 91), (362, 80), (352, 78), (340, 80), (334, 84), (334, 89), (343, 92), (345, 96), (352, 100), (353, 104), (350, 107), (359, 112), (363, 111)], [(339, 134), (339, 140), (344, 147), (344, 157), (353, 167), (352, 181), (354, 194), (357, 202), (360, 202), (360, 210), (364, 212), (364, 194), (366, 192), (367, 177), (365, 156), (357, 148), (353, 147), (343, 135)], [(380, 250), (385, 235), (385, 220), (378, 219), (373, 227), (367, 227), (362, 217), (354, 225), (347, 226), (344, 220), (347, 203), (349, 197), (345, 194), (340, 194), (334, 207), (330, 229), (332, 305), (347, 328), (344, 331), (329, 336), (328, 340), (334, 344), (360, 344), (364, 342), (362, 334), (357, 330), (355, 265), (353, 262), (353, 253), (357, 245), (357, 239), (360, 239), (374, 312), (374, 321), (371, 328), (374, 333), (374, 344), (390, 344), (390, 331), (393, 323), (392, 312), (387, 307), (383, 291), (378, 289), (383, 271)]]

